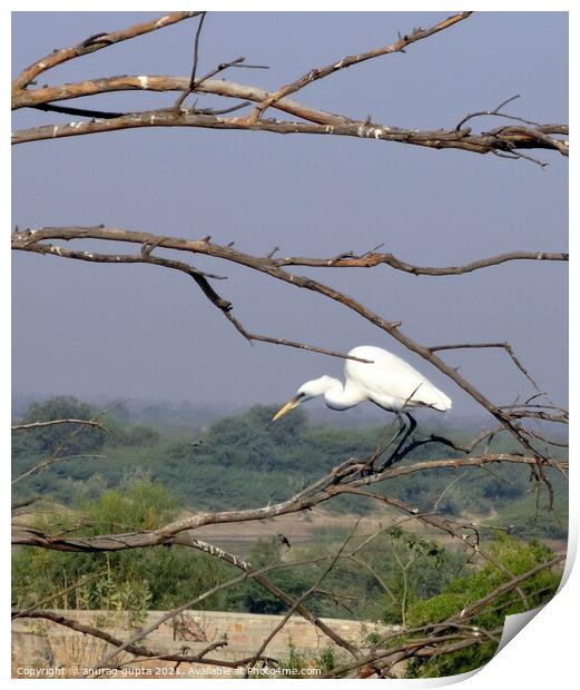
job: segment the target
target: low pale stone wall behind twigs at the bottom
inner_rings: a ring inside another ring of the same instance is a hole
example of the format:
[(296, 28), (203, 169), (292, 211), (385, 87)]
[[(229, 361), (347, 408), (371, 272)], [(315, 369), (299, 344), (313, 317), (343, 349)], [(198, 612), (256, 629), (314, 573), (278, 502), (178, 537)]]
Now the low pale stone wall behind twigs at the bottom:
[[(130, 624), (127, 613), (102, 611), (58, 611), (67, 618), (89, 625), (98, 625), (111, 635), (127, 639), (157, 621), (163, 611), (149, 611), (146, 620), (138, 625)], [(185, 611), (176, 619), (163, 623), (147, 637), (145, 644), (161, 653), (178, 653), (188, 647), (186, 653), (195, 654), (212, 642), (226, 639), (227, 645), (208, 652), (208, 659), (228, 661), (252, 658), (265, 638), (282, 621), (281, 615), (259, 615), (252, 613), (224, 613), (222, 611)], [(373, 623), (341, 619), (322, 619), (342, 638), (360, 644), (365, 634), (376, 630)], [(12, 677), (87, 677), (89, 669), (97, 664), (109, 645), (70, 629), (40, 619), (16, 619), (12, 622)], [(305, 660), (308, 669), (315, 669), (318, 658), (328, 647), (335, 648), (331, 640), (315, 625), (299, 615), (293, 615), (281, 632), (272, 640), (264, 654), (288, 660), (291, 647)], [(111, 648), (112, 649), (112, 648)], [(335, 648), (335, 654), (347, 653)], [(124, 661), (132, 659), (125, 655)], [(140, 677), (235, 677), (227, 667), (208, 664), (180, 664), (175, 670), (175, 661), (147, 660), (124, 667), (116, 676)], [(111, 672), (111, 674), (114, 674)], [(315, 674), (315, 671), (312, 671)]]

